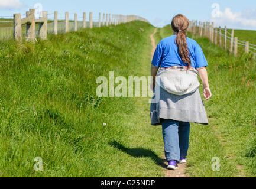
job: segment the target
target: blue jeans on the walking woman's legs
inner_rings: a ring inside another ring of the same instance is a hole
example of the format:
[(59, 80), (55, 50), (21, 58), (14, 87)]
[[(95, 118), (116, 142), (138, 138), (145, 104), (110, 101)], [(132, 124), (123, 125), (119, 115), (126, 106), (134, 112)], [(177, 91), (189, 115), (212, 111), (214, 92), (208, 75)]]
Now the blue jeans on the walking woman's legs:
[(186, 157), (189, 149), (190, 123), (163, 119), (162, 128), (166, 160), (179, 161), (180, 157)]

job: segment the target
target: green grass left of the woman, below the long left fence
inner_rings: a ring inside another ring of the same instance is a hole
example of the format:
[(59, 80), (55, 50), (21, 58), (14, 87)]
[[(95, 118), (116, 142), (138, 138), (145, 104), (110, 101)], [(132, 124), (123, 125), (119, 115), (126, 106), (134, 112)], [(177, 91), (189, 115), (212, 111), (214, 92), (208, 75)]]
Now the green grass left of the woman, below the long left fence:
[[(147, 100), (95, 92), (96, 78), (109, 71), (149, 74), (140, 68), (149, 65), (153, 30), (137, 21), (2, 44), (0, 176), (164, 176), (161, 131), (149, 126)], [(44, 171), (34, 171), (35, 157)]]

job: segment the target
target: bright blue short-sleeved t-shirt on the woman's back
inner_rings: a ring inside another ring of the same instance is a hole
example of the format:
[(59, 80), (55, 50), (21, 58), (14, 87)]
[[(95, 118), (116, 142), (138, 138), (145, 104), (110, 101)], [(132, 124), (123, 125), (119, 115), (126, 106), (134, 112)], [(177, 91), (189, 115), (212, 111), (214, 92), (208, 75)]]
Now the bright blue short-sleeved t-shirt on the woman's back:
[[(175, 44), (176, 35), (163, 38), (158, 43), (154, 53), (152, 64), (155, 67), (171, 67), (171, 66), (188, 66), (189, 64), (184, 63), (180, 58), (179, 50)], [(205, 55), (203, 54), (202, 48), (195, 40), (186, 37), (187, 47), (189, 48), (191, 67), (197, 69), (199, 67), (208, 66)]]

